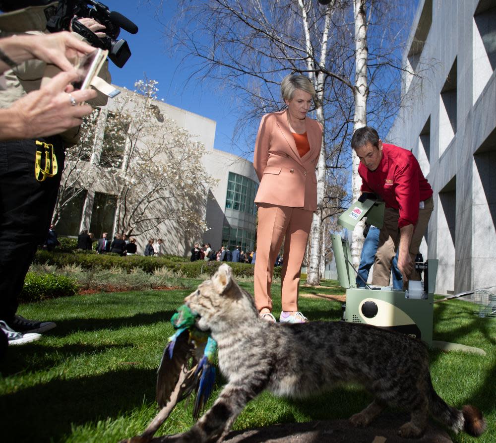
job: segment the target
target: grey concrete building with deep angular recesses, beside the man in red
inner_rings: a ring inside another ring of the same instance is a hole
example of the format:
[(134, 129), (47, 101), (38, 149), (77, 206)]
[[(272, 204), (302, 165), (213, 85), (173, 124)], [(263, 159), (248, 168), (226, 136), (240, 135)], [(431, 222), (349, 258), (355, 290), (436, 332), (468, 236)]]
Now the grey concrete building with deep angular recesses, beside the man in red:
[(385, 139), (413, 149), (433, 187), (423, 249), (439, 260), (436, 292), (494, 287), (496, 0), (420, 0), (404, 65)]

